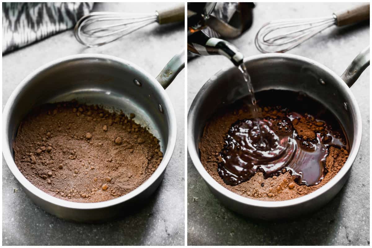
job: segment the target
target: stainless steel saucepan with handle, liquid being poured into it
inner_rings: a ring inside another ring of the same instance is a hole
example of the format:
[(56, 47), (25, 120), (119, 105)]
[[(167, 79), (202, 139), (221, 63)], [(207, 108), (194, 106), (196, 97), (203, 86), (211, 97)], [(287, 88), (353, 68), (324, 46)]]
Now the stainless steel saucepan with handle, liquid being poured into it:
[[(266, 202), (240, 196), (215, 181), (203, 167), (198, 143), (206, 121), (219, 107), (246, 96), (236, 67), (219, 71), (199, 90), (187, 119), (190, 158), (212, 193), (230, 209), (258, 219), (289, 218), (311, 212), (330, 201), (343, 187), (359, 150), (362, 120), (349, 87), (369, 65), (369, 47), (364, 49), (339, 77), (311, 59), (290, 54), (263, 54), (244, 59), (256, 91), (282, 89), (302, 91), (326, 106), (340, 120), (350, 141), (350, 154), (339, 173), (314, 192), (296, 199)], [(368, 94), (368, 93), (366, 93)], [(217, 168), (216, 168), (217, 170)]]

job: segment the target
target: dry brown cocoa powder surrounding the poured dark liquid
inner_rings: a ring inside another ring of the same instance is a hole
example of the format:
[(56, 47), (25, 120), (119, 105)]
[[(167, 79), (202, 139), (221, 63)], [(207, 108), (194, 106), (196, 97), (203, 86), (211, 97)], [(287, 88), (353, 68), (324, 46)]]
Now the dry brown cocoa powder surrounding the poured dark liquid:
[[(291, 111), (291, 107), (293, 110), (296, 110), (296, 112), (300, 110), (312, 110), (314, 116), (322, 116), (325, 118), (325, 116), (330, 115), (330, 112), (327, 112), (327, 110), (318, 103), (304, 102), (303, 105), (299, 105), (299, 103), (302, 103), (302, 97), (297, 96), (297, 93), (296, 95), (292, 93), (286, 95), (287, 93), (283, 91), (281, 94), (284, 95), (287, 104), (283, 104), (286, 106), (278, 106), (278, 103), (283, 103), (283, 97), (277, 96), (278, 92), (275, 94), (273, 92), (267, 92), (256, 94), (256, 98), (258, 99), (257, 103), (259, 105), (259, 117), (268, 116), (271, 118), (280, 118), (285, 116), (286, 111), (287, 113), (288, 111)], [(292, 101), (291, 99), (294, 97), (297, 97), (297, 99)], [(299, 106), (301, 109), (299, 109)], [(315, 133), (320, 132), (323, 129), (323, 126), (319, 125), (320, 123), (317, 121), (318, 117), (314, 118), (314, 116), (311, 116), (308, 112), (303, 112), (302, 114), (304, 114), (304, 116), (308, 115), (308, 117), (294, 119), (292, 125), (296, 132), (301, 133), (305, 138), (313, 139)], [(224, 107), (218, 110), (218, 112), (212, 115), (208, 120), (199, 143), (201, 162), (205, 169), (214, 180), (234, 193), (244, 197), (266, 201), (294, 199), (309, 194), (322, 187), (339, 172), (347, 160), (348, 148), (344, 149), (331, 146), (325, 162), (327, 173), (323, 180), (314, 186), (297, 184), (294, 180), (295, 178), (292, 177), (288, 171), (283, 171), (283, 173), (280, 173), (278, 176), (274, 175), (266, 179), (262, 172), (257, 172), (248, 181), (236, 186), (227, 185), (217, 172), (218, 162), (221, 162), (219, 152), (221, 152), (225, 144), (224, 137), (232, 123), (237, 120), (251, 119), (252, 117), (252, 112), (248, 111), (246, 106), (244, 106), (244, 101)], [(336, 128), (339, 123), (336, 123), (334, 120), (330, 119), (327, 123), (332, 124), (335, 127), (334, 132), (342, 132), (340, 129)], [(332, 129), (332, 127), (330, 127), (330, 129)], [(340, 135), (344, 134), (341, 133)]]

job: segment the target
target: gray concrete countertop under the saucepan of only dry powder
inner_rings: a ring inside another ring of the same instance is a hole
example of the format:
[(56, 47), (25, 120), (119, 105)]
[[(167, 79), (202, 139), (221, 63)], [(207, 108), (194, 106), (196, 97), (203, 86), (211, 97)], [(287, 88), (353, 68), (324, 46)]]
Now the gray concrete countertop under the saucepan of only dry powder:
[[(95, 11), (153, 12), (172, 3), (98, 3)], [(184, 24), (147, 26), (116, 42), (86, 48), (68, 30), (3, 57), (3, 107), (14, 88), (36, 68), (80, 53), (114, 55), (134, 62), (154, 77), (184, 48)], [(3, 159), (3, 245), (183, 245), (184, 78), (182, 71), (167, 88), (176, 112), (177, 142), (164, 180), (148, 203), (123, 219), (103, 224), (71, 223), (36, 206), (24, 193)], [(15, 192), (15, 189), (18, 191)]]

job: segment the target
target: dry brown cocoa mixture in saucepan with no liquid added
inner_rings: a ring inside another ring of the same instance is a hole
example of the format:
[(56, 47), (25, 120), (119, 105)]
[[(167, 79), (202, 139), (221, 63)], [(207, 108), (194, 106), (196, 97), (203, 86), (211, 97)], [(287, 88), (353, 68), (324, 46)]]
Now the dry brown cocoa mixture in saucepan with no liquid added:
[(77, 102), (44, 104), (23, 119), (13, 143), (20, 172), (72, 202), (102, 202), (136, 189), (160, 164), (158, 139), (123, 113)]

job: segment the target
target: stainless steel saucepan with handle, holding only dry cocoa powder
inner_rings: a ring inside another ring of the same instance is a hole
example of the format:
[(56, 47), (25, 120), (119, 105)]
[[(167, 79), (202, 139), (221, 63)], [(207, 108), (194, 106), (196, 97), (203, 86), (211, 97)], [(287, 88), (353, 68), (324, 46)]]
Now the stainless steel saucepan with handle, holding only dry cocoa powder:
[[(26, 194), (47, 212), (60, 218), (92, 222), (125, 213), (141, 205), (159, 186), (176, 142), (176, 117), (164, 90), (185, 65), (184, 51), (174, 56), (154, 78), (129, 61), (101, 54), (78, 54), (50, 62), (28, 75), (13, 91), (3, 111), (3, 155)], [(137, 189), (116, 199), (77, 203), (58, 199), (31, 184), (18, 170), (12, 143), (20, 121), (35, 106), (76, 99), (87, 104), (115, 107), (135, 113), (160, 140), (163, 160)]]

